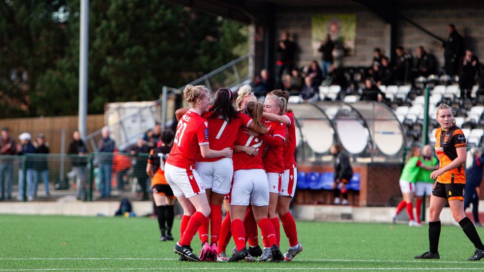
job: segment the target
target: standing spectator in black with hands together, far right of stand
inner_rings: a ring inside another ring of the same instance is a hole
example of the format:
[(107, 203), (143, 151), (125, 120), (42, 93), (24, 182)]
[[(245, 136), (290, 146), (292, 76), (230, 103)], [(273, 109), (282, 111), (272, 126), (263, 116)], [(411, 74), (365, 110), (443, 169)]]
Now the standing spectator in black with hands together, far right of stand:
[(461, 99), (467, 97), (467, 92), (469, 92), (470, 97), (472, 87), (476, 84), (476, 75), (479, 72), (480, 66), (479, 58), (477, 58), (472, 50), (467, 49), (460, 63), (459, 86)]

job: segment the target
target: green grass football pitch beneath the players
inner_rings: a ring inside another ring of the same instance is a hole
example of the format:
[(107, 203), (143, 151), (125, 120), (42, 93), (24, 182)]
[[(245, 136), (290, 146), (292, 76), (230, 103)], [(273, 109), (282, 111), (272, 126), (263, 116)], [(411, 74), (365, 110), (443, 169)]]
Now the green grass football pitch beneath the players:
[[(474, 247), (456, 226), (442, 227), (440, 260), (413, 259), (428, 248), (426, 226), (297, 226), (304, 251), (292, 262), (194, 263), (179, 262), (173, 242), (158, 242), (155, 219), (0, 215), (0, 271), (484, 271), (484, 260), (467, 261)], [(199, 245), (196, 236), (192, 246)], [(287, 246), (283, 235), (281, 250)]]

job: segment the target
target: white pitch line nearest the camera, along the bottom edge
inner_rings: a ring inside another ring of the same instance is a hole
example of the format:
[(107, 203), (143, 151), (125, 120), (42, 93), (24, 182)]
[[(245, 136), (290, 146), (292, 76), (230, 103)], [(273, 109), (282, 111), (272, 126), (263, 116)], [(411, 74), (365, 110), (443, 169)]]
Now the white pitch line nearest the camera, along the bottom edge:
[[(264, 267), (264, 268), (249, 268), (249, 267), (238, 267), (238, 268), (227, 268), (227, 267), (215, 267), (215, 268), (208, 268), (208, 267), (199, 267), (199, 268), (183, 268), (183, 270), (287, 270), (288, 268), (285, 267)], [(482, 271), (482, 268), (405, 268), (405, 267), (390, 267), (390, 268), (371, 268), (371, 267), (364, 267), (364, 268), (308, 268), (308, 267), (291, 267), (291, 270), (325, 270), (325, 271), (375, 271), (375, 270), (415, 270), (415, 271)], [(42, 268), (42, 269), (0, 269), (0, 271), (133, 271), (133, 270), (180, 270), (180, 268)]]

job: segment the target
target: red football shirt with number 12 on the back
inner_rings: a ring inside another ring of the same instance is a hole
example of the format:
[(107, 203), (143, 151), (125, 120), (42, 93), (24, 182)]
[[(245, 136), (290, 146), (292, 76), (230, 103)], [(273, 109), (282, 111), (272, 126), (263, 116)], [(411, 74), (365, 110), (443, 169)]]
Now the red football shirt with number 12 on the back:
[(241, 169), (264, 169), (264, 163), (262, 163), (262, 151), (266, 146), (266, 143), (254, 136), (244, 133), (244, 129), (238, 130), (236, 145), (252, 146), (259, 149), (257, 156), (247, 155), (245, 152), (234, 153), (232, 160), (234, 161), (234, 171)]

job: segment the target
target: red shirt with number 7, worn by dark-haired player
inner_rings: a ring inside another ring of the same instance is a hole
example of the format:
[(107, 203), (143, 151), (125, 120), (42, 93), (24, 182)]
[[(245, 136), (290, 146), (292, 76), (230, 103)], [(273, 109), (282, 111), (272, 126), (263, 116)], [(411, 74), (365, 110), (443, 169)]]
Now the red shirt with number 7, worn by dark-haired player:
[[(220, 117), (212, 118), (210, 117), (211, 114), (211, 111), (206, 112), (203, 114), (203, 117), (207, 118), (209, 122), (209, 145), (212, 150), (223, 150), (226, 147), (233, 149), (239, 129), (248, 127), (252, 122), (252, 118), (242, 112), (239, 112), (239, 118), (232, 118), (230, 122)], [(204, 158), (202, 154), (199, 154), (197, 162), (216, 162), (223, 158), (225, 157)]]

